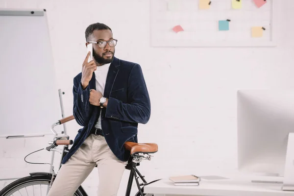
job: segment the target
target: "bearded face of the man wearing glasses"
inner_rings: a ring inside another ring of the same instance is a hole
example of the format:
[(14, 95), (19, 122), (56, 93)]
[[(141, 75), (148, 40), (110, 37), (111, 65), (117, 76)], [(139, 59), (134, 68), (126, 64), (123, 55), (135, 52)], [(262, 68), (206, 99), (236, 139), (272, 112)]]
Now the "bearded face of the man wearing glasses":
[(115, 47), (110, 47), (107, 43), (104, 48), (101, 47), (102, 42), (113, 40), (111, 30), (94, 30), (90, 41), (96, 41), (93, 44), (93, 58), (99, 65), (111, 63), (113, 61)]

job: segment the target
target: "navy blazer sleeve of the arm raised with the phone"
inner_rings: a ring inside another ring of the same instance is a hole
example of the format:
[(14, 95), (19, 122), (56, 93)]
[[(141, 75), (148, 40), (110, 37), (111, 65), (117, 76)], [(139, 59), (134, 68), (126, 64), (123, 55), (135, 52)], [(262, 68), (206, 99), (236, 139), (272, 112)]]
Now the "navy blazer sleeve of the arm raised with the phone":
[(76, 122), (81, 126), (86, 126), (90, 120), (89, 112), (89, 85), (83, 90), (81, 82), (73, 79), (73, 116)]

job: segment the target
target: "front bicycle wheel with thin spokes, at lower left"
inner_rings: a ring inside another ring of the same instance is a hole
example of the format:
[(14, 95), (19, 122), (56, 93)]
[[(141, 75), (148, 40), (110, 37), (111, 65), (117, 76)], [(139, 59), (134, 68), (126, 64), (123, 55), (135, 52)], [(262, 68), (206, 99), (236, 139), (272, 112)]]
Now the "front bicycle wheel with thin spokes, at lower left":
[[(20, 178), (0, 191), (0, 196), (46, 196), (51, 180), (51, 174), (30, 175)], [(87, 196), (79, 187), (73, 196)]]

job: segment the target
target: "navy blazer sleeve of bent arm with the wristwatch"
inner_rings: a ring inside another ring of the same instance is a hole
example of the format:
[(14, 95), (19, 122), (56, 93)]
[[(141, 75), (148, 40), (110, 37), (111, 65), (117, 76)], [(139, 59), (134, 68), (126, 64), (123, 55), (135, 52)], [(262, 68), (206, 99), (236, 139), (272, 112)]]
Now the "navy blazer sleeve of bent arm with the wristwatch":
[(140, 65), (132, 68), (127, 87), (128, 103), (109, 98), (105, 117), (130, 123), (146, 124), (150, 118), (151, 106), (146, 82)]

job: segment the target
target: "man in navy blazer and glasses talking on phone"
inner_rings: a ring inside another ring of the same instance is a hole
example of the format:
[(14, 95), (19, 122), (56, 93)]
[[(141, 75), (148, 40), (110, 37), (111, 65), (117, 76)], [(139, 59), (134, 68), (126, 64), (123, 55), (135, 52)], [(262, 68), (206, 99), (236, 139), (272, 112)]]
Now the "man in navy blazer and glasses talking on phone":
[(126, 141), (137, 142), (138, 123), (150, 118), (150, 99), (140, 65), (114, 57), (112, 30), (87, 27), (86, 46), (93, 43), (82, 72), (73, 79), (73, 116), (83, 126), (62, 160), (48, 196), (73, 196), (97, 166), (98, 196), (116, 196), (130, 157)]

